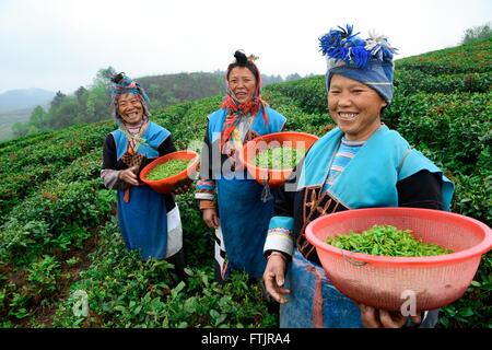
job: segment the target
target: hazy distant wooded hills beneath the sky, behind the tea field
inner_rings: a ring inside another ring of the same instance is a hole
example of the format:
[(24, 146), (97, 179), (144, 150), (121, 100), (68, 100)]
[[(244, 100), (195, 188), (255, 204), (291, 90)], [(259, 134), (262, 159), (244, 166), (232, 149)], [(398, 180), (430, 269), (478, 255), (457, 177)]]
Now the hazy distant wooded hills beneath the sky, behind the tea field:
[[(27, 122), (17, 122), (12, 127), (15, 137), (33, 135), (39, 131), (57, 130), (75, 124), (94, 122), (109, 119), (109, 81), (117, 71), (113, 67), (99, 69), (92, 85), (80, 86), (72, 95), (58, 91), (49, 109), (37, 106)], [(195, 101), (225, 92), (225, 72), (215, 71), (178, 73), (137, 78), (148, 93), (152, 109), (165, 107), (185, 101)], [(130, 75), (131, 77), (131, 75)], [(133, 77), (132, 77), (133, 78)], [(263, 85), (280, 83), (281, 75), (261, 75)], [(290, 74), (285, 81), (297, 80), (297, 73)]]

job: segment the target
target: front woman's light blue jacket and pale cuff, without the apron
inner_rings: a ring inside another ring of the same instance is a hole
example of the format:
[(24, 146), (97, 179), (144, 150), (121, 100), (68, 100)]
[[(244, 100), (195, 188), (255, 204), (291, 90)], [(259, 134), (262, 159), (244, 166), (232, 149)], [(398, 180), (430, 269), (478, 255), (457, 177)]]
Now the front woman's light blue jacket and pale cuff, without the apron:
[[(291, 190), (300, 192), (323, 188), (342, 136), (343, 132), (335, 128), (311, 148), (297, 172), (298, 180), (291, 184), (295, 186)], [(397, 183), (422, 170), (441, 177), (442, 206), (444, 210), (449, 210), (454, 184), (434, 163), (412, 149), (397, 131), (383, 125), (359, 150), (343, 173), (337, 177), (327, 197), (332, 198), (333, 203), (345, 210), (398, 207)], [(319, 192), (316, 196), (319, 196)], [(305, 205), (305, 202), (302, 203), (302, 206)], [(329, 205), (326, 209), (329, 209)], [(326, 213), (329, 212), (329, 210), (326, 211)], [(302, 228), (304, 229), (307, 223), (304, 222)], [(297, 235), (303, 234), (303, 232), (294, 231), (296, 230), (294, 230), (293, 217), (273, 217), (270, 220), (265, 250), (276, 249), (292, 255)]]

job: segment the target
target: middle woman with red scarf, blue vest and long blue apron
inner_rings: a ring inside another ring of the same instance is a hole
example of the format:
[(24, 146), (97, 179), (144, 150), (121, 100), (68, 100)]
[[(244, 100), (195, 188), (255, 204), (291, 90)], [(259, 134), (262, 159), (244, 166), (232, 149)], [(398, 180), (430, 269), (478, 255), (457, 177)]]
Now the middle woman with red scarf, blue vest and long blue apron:
[(242, 51), (227, 67), (227, 94), (221, 108), (208, 116), (196, 198), (203, 220), (215, 229), (215, 278), (233, 270), (260, 278), (266, 260), (262, 246), (273, 213), (273, 197), (248, 178), (238, 162), (244, 143), (281, 131), (285, 117), (261, 100), (256, 57)]

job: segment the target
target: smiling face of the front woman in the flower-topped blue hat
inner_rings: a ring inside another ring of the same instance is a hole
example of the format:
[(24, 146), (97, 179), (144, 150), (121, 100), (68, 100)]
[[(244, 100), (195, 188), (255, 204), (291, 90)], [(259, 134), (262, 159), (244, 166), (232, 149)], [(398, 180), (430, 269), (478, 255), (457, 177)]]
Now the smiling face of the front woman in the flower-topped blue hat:
[(387, 103), (370, 86), (340, 74), (331, 77), (328, 109), (350, 141), (364, 141), (380, 126)]

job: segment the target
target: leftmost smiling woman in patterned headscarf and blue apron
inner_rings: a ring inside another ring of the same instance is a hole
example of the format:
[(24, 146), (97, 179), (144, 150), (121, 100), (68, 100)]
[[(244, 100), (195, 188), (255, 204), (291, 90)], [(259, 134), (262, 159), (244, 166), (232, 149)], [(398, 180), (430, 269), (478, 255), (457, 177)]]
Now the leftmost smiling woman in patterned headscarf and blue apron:
[[(117, 189), (118, 223), (128, 249), (143, 260), (167, 258), (185, 278), (183, 230), (173, 195), (139, 182), (139, 172), (154, 159), (176, 151), (171, 132), (150, 121), (149, 97), (125, 73), (112, 79), (112, 108), (119, 128), (106, 137), (101, 178)], [(180, 188), (186, 190), (187, 188)]]

